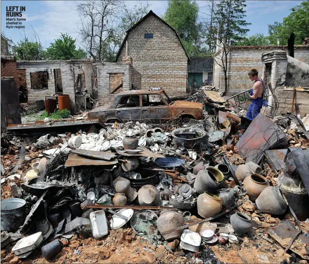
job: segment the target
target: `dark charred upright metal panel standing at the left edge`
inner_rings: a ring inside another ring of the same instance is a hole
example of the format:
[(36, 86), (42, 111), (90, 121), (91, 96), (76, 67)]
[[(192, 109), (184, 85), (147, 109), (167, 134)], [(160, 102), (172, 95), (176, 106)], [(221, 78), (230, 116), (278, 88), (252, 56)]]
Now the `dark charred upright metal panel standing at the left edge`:
[(1, 80), (1, 104), (5, 109), (6, 124), (21, 124), (19, 94), (14, 79)]

